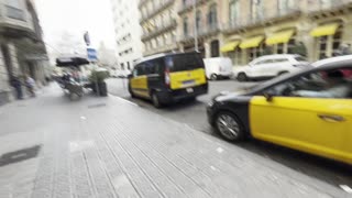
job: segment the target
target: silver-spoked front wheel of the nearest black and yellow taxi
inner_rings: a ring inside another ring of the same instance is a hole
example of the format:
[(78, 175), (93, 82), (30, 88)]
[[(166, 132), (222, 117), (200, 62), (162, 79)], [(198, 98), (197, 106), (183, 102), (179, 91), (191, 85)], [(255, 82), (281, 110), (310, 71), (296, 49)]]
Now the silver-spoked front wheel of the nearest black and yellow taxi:
[(244, 130), (239, 119), (231, 112), (220, 112), (215, 124), (220, 135), (230, 142), (238, 142), (244, 139)]

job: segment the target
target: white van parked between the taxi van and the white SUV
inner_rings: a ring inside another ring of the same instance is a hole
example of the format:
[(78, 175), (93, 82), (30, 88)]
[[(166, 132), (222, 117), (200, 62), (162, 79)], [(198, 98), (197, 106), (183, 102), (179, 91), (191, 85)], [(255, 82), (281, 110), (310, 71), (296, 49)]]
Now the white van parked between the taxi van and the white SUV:
[(205, 58), (204, 62), (208, 79), (217, 80), (220, 78), (230, 78), (233, 75), (232, 62), (230, 58)]

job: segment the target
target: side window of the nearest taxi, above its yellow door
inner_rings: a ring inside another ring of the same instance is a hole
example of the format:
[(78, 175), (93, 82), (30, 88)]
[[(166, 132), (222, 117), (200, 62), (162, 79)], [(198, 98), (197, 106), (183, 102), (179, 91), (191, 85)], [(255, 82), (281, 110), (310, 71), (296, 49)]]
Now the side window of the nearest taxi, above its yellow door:
[(315, 72), (276, 85), (270, 92), (282, 97), (352, 98), (352, 69)]

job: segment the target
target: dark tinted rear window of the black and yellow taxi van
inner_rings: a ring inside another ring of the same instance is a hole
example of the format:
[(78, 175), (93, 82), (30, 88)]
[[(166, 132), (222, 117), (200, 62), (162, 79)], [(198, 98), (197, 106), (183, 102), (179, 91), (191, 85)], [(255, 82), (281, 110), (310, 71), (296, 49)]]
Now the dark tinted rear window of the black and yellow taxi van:
[(199, 54), (183, 54), (166, 58), (166, 65), (170, 72), (193, 70), (204, 68)]

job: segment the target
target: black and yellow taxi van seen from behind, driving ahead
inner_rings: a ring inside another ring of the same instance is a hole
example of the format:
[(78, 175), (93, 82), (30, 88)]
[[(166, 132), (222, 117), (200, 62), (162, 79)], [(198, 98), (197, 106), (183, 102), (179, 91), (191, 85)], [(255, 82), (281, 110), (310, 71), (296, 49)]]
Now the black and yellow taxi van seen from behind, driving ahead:
[(132, 97), (151, 99), (156, 108), (208, 92), (199, 53), (170, 53), (143, 58), (129, 76)]

